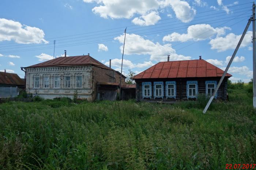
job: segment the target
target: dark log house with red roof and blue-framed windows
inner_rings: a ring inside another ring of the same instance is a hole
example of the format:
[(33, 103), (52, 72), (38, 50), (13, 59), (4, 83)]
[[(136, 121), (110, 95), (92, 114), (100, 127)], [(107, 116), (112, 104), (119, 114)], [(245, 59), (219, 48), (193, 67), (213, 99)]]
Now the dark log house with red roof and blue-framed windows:
[[(176, 103), (196, 100), (200, 93), (211, 96), (224, 73), (203, 59), (159, 62), (133, 77), (136, 101)], [(227, 99), (227, 73), (216, 99)]]

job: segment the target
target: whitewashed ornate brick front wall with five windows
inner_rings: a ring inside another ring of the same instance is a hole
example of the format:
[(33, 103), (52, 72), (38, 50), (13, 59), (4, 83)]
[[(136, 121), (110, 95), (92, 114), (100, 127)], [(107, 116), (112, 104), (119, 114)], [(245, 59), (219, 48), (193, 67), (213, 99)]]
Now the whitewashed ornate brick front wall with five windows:
[(27, 67), (25, 70), (27, 93), (46, 99), (73, 98), (74, 91), (77, 90), (79, 98), (93, 99), (91, 65)]

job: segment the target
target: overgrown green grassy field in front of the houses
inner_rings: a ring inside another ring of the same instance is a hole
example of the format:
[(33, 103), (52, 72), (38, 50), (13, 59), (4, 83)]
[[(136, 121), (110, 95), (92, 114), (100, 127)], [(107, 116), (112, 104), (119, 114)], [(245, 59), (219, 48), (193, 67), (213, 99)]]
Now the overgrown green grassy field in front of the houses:
[(0, 104), (0, 169), (225, 169), (256, 163), (252, 90), (176, 105), (63, 98)]

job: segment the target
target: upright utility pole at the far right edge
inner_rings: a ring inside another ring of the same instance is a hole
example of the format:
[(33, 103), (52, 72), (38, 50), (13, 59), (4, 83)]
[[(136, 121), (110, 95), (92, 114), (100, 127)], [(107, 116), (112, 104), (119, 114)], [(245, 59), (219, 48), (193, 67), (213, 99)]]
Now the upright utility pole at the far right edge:
[(252, 55), (253, 55), (253, 107), (256, 108), (256, 35), (255, 35), (255, 3), (252, 5)]

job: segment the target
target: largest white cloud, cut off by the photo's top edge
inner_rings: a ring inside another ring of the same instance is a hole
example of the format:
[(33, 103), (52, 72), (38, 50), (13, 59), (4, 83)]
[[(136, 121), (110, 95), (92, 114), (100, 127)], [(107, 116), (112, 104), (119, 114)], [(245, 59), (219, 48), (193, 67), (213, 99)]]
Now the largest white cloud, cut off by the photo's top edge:
[[(133, 15), (146, 15), (165, 7), (172, 7), (176, 17), (182, 22), (189, 22), (196, 13), (187, 1), (182, 0), (83, 0), (85, 3), (97, 3), (92, 11), (102, 18), (132, 18)], [(141, 18), (138, 18), (141, 19)], [(145, 20), (145, 19), (144, 19)]]

